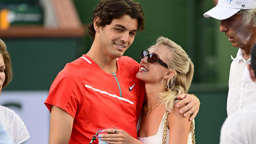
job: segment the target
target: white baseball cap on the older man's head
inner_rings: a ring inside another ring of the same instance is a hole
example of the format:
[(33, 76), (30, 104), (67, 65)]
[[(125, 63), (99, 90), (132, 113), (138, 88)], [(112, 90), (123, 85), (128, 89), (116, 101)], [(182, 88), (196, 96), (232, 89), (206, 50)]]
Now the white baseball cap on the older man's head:
[(225, 20), (240, 10), (253, 9), (255, 7), (256, 0), (219, 0), (217, 6), (204, 13), (204, 17)]

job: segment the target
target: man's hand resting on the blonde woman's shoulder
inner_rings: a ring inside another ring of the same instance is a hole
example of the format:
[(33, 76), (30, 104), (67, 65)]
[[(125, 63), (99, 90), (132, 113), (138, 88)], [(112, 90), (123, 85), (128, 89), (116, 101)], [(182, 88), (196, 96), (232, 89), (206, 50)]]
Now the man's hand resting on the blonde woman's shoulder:
[(190, 116), (190, 121), (192, 121), (198, 111), (199, 111), (199, 106), (200, 106), (200, 101), (195, 95), (190, 95), (190, 94), (181, 94), (177, 96), (178, 100), (181, 100), (180, 102), (177, 103), (176, 107), (179, 108), (183, 105), (186, 105), (180, 110), (180, 114), (183, 114), (183, 117)]

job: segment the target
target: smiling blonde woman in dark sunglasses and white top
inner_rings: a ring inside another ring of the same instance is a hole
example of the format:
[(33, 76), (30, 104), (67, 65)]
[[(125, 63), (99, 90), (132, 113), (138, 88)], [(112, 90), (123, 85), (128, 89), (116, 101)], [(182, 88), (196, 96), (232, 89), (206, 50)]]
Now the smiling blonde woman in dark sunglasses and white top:
[(175, 42), (159, 37), (140, 58), (136, 77), (145, 82), (147, 103), (140, 117), (138, 140), (122, 129), (114, 129), (117, 134), (100, 135), (100, 139), (110, 144), (161, 144), (166, 137), (166, 144), (192, 143), (191, 122), (179, 113), (184, 106), (175, 106), (177, 96), (188, 92), (193, 78), (194, 65), (189, 56)]

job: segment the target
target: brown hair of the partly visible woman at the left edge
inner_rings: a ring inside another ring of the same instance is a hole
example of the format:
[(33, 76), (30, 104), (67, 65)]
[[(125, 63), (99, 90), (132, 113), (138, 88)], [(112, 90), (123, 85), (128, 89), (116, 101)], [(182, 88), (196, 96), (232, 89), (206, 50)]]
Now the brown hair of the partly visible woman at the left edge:
[(10, 81), (12, 80), (12, 65), (11, 65), (11, 58), (10, 55), (6, 49), (5, 43), (0, 39), (0, 53), (2, 54), (4, 58), (4, 63), (5, 63), (5, 81), (4, 84), (2, 85), (2, 88), (6, 87)]

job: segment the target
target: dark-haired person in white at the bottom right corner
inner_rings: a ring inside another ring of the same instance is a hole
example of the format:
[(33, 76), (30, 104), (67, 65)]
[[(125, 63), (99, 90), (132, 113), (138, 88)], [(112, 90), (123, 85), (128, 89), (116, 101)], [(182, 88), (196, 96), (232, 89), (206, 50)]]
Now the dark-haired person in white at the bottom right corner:
[[(256, 85), (256, 44), (251, 49), (251, 64), (247, 65)], [(254, 95), (256, 97), (256, 95)], [(256, 144), (256, 102), (226, 118), (220, 132), (220, 144)]]

